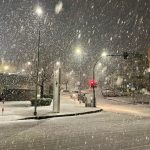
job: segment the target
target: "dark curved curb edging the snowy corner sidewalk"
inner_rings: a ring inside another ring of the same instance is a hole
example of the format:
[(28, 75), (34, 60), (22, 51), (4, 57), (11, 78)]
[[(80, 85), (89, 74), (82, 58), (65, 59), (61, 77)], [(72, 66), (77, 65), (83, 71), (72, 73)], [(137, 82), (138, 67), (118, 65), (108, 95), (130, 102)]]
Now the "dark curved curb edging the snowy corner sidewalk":
[(72, 113), (72, 114), (62, 114), (62, 115), (51, 115), (51, 116), (38, 116), (38, 117), (27, 117), (23, 119), (18, 120), (30, 120), (30, 119), (36, 119), (36, 120), (42, 120), (42, 119), (48, 119), (48, 118), (60, 118), (60, 117), (71, 117), (71, 116), (79, 116), (79, 115), (86, 115), (86, 114), (93, 114), (103, 111), (103, 109), (94, 110), (94, 111), (87, 111), (87, 112), (81, 112), (81, 113)]

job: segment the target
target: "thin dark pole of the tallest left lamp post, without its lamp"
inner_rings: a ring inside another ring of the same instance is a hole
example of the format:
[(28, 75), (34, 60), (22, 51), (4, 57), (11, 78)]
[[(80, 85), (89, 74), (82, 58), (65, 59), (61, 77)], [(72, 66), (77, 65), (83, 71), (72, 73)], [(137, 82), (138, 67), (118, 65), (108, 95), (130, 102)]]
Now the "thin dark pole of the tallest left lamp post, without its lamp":
[(38, 31), (38, 51), (37, 51), (37, 70), (36, 70), (36, 87), (35, 87), (35, 103), (34, 103), (34, 116), (37, 116), (37, 100), (38, 100), (38, 85), (39, 85), (39, 61), (40, 61), (40, 23)]

